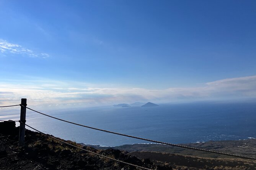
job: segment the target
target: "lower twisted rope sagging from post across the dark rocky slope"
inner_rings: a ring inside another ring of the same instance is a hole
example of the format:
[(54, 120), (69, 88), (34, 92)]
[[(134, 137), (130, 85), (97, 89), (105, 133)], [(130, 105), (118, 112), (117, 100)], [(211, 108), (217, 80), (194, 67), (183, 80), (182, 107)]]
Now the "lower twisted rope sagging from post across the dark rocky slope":
[[(22, 122), (21, 122), (21, 123), (22, 123)], [(42, 132), (40, 132), (39, 130), (36, 130), (35, 128), (33, 128), (33, 127), (31, 127), (31, 126), (29, 126), (29, 125), (27, 125), (27, 124), (25, 124), (25, 125), (28, 126), (28, 127), (30, 127), (31, 129), (33, 129), (33, 130), (39, 132), (39, 133), (42, 133)], [(60, 142), (62, 142), (62, 143), (65, 143), (65, 144), (67, 144), (67, 145), (73, 146), (74, 148), (78, 148), (78, 149), (81, 149), (81, 150), (83, 150), (83, 151), (90, 152), (90, 153), (95, 154), (95, 155), (100, 156), (100, 157), (104, 157), (104, 158), (111, 159), (111, 160), (114, 160), (114, 161), (117, 161), (117, 162), (121, 162), (121, 163), (123, 163), (123, 164), (132, 165), (132, 166), (137, 167), (137, 168), (141, 168), (141, 169), (145, 169), (145, 170), (152, 170), (152, 169), (149, 169), (149, 168), (140, 167), (140, 166), (138, 166), (138, 165), (130, 164), (130, 163), (124, 162), (124, 161), (122, 161), (122, 160), (114, 159), (114, 158), (105, 156), (105, 155), (103, 155), (103, 154), (98, 154), (98, 153), (96, 153), (96, 152), (93, 152), (93, 151), (90, 151), (90, 150), (87, 150), (87, 149), (83, 149), (83, 148), (81, 148), (81, 147), (79, 147), (79, 146), (75, 146), (75, 145), (73, 145), (73, 144), (67, 143), (67, 142), (65, 142), (65, 141), (62, 141), (62, 140), (60, 140), (60, 139), (58, 139), (58, 138), (55, 138), (55, 137), (53, 137), (53, 136), (51, 136), (51, 135), (48, 135), (48, 134), (45, 134), (45, 133), (42, 133), (42, 134), (44, 134), (44, 135), (46, 135), (46, 136), (48, 136), (48, 137), (50, 137), (50, 138), (53, 138), (53, 139), (55, 139), (55, 140), (57, 140), (57, 141), (60, 141)]]

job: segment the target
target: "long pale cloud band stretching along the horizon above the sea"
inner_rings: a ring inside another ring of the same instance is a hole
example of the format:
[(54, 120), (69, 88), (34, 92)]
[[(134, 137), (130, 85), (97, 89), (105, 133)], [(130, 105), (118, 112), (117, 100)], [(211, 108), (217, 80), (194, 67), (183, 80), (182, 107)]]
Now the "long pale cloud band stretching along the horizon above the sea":
[(48, 81), (47, 83), (41, 82), (36, 85), (35, 83), (33, 85), (0, 83), (0, 102), (2, 104), (13, 104), (19, 103), (21, 98), (28, 98), (30, 106), (95, 106), (134, 101), (160, 103), (256, 97), (256, 75), (207, 82), (201, 87), (171, 87), (164, 90), (145, 88), (81, 88), (81, 83), (79, 82)]

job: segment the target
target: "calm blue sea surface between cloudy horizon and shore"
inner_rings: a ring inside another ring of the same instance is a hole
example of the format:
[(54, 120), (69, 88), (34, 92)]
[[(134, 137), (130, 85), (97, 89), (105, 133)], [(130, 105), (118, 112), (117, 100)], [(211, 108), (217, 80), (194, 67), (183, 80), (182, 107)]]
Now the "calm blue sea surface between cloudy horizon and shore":
[[(256, 138), (256, 103), (162, 104), (159, 107), (98, 107), (43, 111), (72, 122), (169, 143)], [(4, 120), (19, 112), (1, 112)], [(65, 140), (101, 146), (148, 143), (99, 132), (27, 111), (27, 123)]]

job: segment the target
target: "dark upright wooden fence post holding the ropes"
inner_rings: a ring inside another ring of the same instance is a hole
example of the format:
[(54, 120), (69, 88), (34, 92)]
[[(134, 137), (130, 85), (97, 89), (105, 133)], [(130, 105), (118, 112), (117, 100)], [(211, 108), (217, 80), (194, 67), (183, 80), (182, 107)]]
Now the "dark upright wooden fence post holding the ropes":
[[(21, 105), (27, 106), (27, 99), (21, 99)], [(25, 122), (26, 122), (26, 107), (20, 107), (20, 135), (19, 146), (23, 146), (25, 143)]]

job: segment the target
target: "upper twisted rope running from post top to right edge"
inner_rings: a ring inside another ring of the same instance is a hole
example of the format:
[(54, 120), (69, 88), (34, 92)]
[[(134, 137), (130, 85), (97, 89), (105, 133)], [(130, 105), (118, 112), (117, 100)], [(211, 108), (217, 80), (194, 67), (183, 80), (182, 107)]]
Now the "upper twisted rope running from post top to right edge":
[[(20, 106), (23, 106), (23, 105), (20, 105)], [(23, 106), (23, 107), (26, 107), (26, 106)], [(218, 152), (218, 151), (211, 151), (211, 150), (206, 150), (206, 149), (194, 148), (194, 147), (190, 147), (190, 146), (183, 146), (183, 145), (179, 145), (179, 144), (166, 143), (166, 142), (150, 140), (150, 139), (146, 139), (146, 138), (140, 138), (140, 137), (137, 137), (137, 136), (131, 136), (131, 135), (126, 135), (126, 134), (117, 133), (117, 132), (111, 132), (109, 130), (99, 129), (99, 128), (95, 128), (95, 127), (90, 127), (90, 126), (82, 125), (82, 124), (79, 124), (79, 123), (70, 122), (68, 120), (59, 119), (57, 117), (53, 117), (53, 116), (50, 116), (50, 115), (47, 115), (47, 114), (35, 111), (33, 109), (30, 109), (29, 107), (26, 107), (26, 108), (31, 110), (31, 111), (37, 112), (39, 114), (51, 117), (53, 119), (61, 120), (63, 122), (71, 123), (71, 124), (82, 126), (82, 127), (86, 127), (86, 128), (91, 128), (91, 129), (99, 130), (99, 131), (102, 131), (102, 132), (113, 133), (113, 134), (116, 134), (116, 135), (126, 136), (126, 137), (129, 137), (129, 138), (135, 138), (135, 139), (150, 141), (150, 142), (154, 142), (154, 143), (166, 144), (166, 145), (170, 145), (170, 146), (177, 146), (177, 147), (180, 147), (180, 148), (193, 149), (193, 150), (197, 150), (197, 151), (210, 152), (210, 153), (214, 153), (214, 154), (221, 154), (221, 155), (227, 155), (227, 156), (234, 156), (234, 157), (240, 157), (240, 158), (245, 158), (245, 159), (256, 160), (256, 158), (254, 158), (254, 157), (247, 157), (247, 156), (241, 156), (241, 155), (236, 155), (236, 154), (228, 154), (228, 153), (224, 153), (224, 152)]]

